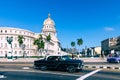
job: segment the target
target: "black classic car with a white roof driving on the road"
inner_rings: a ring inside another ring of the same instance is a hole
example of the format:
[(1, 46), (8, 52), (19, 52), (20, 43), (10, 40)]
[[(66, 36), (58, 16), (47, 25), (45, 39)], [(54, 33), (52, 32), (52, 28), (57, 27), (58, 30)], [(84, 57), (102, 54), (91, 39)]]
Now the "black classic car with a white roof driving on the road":
[(57, 69), (73, 73), (82, 70), (83, 66), (82, 60), (74, 60), (67, 55), (50, 55), (45, 59), (34, 61), (34, 68), (40, 70)]

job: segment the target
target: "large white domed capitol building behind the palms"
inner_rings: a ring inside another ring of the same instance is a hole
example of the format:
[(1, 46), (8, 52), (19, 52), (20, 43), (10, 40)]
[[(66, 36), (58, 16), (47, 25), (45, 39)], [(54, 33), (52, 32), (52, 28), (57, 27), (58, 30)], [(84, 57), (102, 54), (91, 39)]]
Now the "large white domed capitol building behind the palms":
[(9, 44), (7, 38), (12, 38), (11, 49), (12, 56), (23, 56), (23, 52), (21, 47), (19, 46), (18, 36), (23, 35), (25, 38), (23, 41), (24, 53), (25, 56), (38, 56), (40, 52), (37, 51), (37, 46), (35, 46), (34, 40), (42, 35), (43, 38), (50, 35), (51, 40), (48, 43), (44, 40), (44, 51), (42, 51), (41, 55), (47, 54), (58, 54), (60, 52), (60, 42), (57, 38), (57, 32), (55, 28), (55, 22), (50, 18), (50, 14), (48, 14), (48, 18), (43, 22), (43, 28), (41, 33), (34, 33), (29, 30), (20, 29), (20, 28), (12, 28), (12, 27), (0, 27), (0, 57), (5, 57), (9, 52)]

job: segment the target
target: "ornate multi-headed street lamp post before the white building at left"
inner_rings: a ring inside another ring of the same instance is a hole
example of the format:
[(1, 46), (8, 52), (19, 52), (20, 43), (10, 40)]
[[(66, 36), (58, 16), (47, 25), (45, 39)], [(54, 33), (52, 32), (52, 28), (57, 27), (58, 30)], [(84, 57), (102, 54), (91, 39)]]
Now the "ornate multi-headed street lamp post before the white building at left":
[(7, 40), (8, 44), (9, 44), (7, 58), (12, 60), (12, 41), (13, 41), (13, 37), (12, 36), (11, 37), (7, 36), (6, 40)]

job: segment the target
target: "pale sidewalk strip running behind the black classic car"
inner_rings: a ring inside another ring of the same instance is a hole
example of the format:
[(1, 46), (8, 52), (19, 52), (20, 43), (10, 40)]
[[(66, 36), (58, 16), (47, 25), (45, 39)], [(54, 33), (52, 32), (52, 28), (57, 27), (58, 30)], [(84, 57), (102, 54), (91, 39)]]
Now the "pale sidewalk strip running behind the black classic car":
[[(103, 58), (80, 58), (84, 62), (106, 62), (106, 59)], [(18, 59), (7, 59), (0, 58), (0, 62), (34, 62), (34, 60), (38, 60), (38, 58), (18, 58)]]

